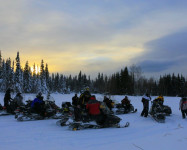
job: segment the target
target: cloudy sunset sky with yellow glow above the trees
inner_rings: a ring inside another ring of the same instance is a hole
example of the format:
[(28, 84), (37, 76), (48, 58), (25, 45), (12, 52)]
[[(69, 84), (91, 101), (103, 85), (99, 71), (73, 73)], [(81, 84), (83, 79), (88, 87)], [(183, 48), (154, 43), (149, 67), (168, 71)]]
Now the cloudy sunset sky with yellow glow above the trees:
[(133, 64), (187, 76), (186, 0), (0, 0), (0, 50), (22, 66), (94, 77)]

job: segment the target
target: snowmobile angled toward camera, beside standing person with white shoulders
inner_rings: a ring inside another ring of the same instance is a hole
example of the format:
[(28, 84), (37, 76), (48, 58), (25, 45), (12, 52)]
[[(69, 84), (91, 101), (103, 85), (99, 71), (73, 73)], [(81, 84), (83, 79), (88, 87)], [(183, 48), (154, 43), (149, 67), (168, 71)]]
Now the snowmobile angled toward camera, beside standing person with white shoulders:
[(153, 101), (149, 114), (157, 122), (159, 122), (159, 123), (164, 123), (165, 122), (166, 114), (164, 112), (164, 109), (163, 109), (161, 103)]

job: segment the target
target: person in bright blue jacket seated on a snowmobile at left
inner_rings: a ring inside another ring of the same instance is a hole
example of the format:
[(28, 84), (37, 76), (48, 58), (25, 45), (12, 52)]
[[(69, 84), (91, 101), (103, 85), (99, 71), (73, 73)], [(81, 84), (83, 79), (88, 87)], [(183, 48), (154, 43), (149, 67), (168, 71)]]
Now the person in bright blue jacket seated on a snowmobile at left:
[(36, 98), (31, 103), (31, 108), (41, 116), (45, 115), (45, 108), (44, 108), (45, 102), (43, 101), (42, 93), (38, 93)]

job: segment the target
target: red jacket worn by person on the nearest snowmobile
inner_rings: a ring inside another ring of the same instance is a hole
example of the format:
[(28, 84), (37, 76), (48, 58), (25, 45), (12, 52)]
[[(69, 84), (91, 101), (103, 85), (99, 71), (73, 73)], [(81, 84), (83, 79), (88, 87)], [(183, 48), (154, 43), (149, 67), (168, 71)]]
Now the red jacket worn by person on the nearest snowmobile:
[(90, 115), (99, 115), (100, 114), (100, 103), (97, 100), (89, 100), (86, 105), (88, 113)]

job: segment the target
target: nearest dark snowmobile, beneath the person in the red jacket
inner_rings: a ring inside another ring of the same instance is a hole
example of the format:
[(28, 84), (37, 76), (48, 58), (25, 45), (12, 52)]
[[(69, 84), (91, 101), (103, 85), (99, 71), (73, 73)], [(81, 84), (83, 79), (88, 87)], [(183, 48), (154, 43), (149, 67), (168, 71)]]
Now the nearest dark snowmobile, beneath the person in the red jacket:
[(69, 130), (83, 130), (83, 129), (101, 129), (101, 128), (125, 128), (130, 125), (129, 122), (126, 122), (125, 125), (120, 125), (119, 122), (121, 119), (115, 115), (108, 115), (105, 118), (105, 122), (103, 124), (98, 124), (95, 121), (73, 121), (72, 119), (66, 117), (56, 122), (58, 126), (68, 126)]

